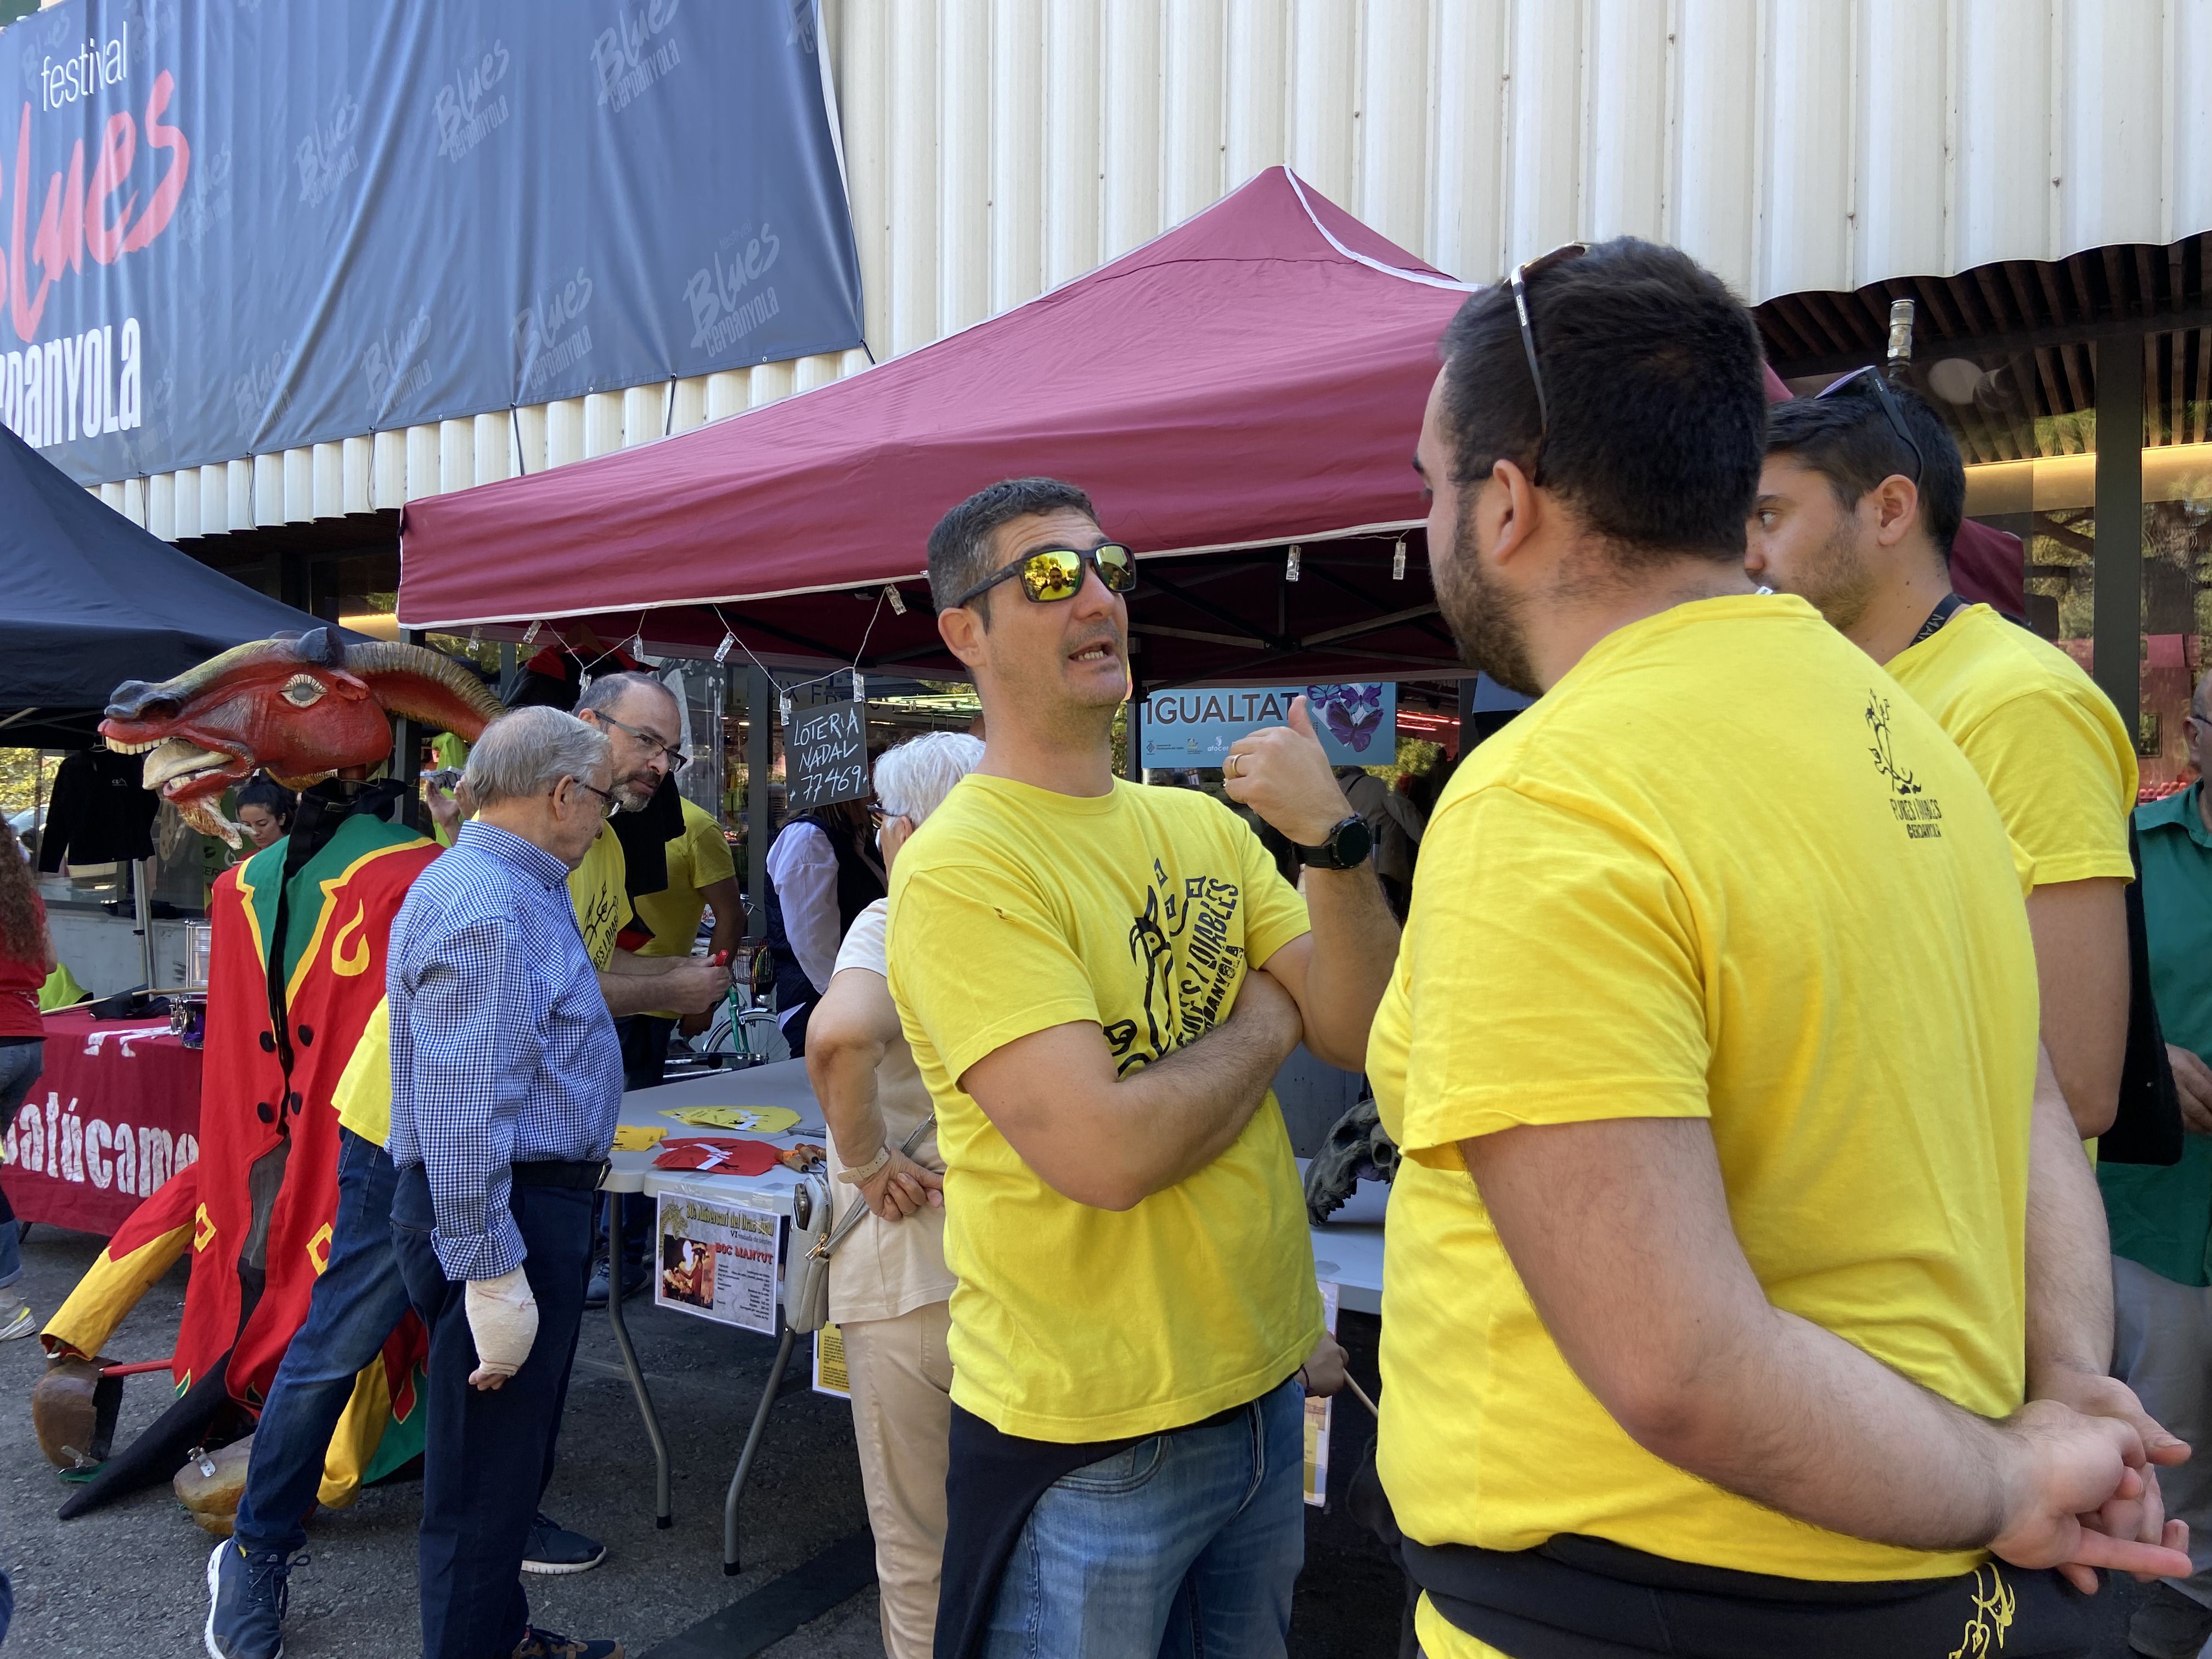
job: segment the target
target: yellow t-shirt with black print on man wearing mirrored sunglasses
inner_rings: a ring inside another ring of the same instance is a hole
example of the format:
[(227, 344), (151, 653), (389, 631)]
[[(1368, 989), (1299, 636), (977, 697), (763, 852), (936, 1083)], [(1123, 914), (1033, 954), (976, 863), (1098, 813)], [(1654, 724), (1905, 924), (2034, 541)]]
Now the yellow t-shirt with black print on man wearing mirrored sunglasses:
[(1321, 1340), (1290, 1135), (1270, 1095), (1212, 1164), (1133, 1210), (1046, 1186), (960, 1091), (1071, 1022), (1126, 1075), (1228, 1015), (1307, 931), (1259, 838), (1194, 790), (1066, 796), (967, 776), (891, 869), (889, 980), (938, 1108), (953, 1400), (1026, 1440), (1159, 1433), (1243, 1405)]

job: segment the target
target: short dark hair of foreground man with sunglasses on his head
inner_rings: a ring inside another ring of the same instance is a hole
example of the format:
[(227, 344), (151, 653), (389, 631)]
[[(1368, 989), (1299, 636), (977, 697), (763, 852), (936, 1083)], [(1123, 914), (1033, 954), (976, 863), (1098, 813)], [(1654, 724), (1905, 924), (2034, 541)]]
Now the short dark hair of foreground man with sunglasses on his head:
[[(1509, 283), (1451, 319), (1444, 418), (1451, 482), (1513, 460), (1646, 564), (1743, 557), (1767, 427), (1765, 358), (1743, 303), (1677, 248), (1601, 241), (1526, 283), (1548, 427)], [(1542, 453), (1537, 436), (1542, 434)]]

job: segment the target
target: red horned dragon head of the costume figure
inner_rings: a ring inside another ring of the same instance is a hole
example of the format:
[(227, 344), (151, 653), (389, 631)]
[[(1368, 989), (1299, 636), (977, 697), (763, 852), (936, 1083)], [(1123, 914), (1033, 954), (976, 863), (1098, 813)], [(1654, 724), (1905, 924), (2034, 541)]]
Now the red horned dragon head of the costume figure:
[(186, 823), (237, 847), (241, 832), (217, 803), (254, 768), (299, 790), (387, 759), (389, 714), (473, 743), (500, 712), (451, 657), (380, 639), (349, 646), (310, 628), (234, 646), (159, 686), (126, 679), (100, 734), (119, 754), (146, 757), (146, 787)]

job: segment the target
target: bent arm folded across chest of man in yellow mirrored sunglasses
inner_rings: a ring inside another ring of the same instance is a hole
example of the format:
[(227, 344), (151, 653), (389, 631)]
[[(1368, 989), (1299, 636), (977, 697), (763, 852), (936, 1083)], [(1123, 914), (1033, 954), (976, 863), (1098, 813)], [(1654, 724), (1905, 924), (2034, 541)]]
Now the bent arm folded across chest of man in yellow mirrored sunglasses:
[(1106, 1035), (1084, 1020), (991, 1051), (960, 1086), (1055, 1192), (1133, 1210), (1221, 1157), (1296, 1046), (1296, 1002), (1250, 971), (1228, 1020), (1126, 1077), (1115, 1075)]

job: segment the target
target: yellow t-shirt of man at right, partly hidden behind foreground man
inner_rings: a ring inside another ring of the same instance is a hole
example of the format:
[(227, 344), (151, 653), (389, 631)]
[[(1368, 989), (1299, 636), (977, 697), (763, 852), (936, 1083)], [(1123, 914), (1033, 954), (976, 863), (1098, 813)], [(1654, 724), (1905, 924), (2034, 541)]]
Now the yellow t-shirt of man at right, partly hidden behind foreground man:
[(2135, 741), (2081, 664), (1969, 604), (1887, 666), (1966, 752), (2037, 885), (2135, 876)]

